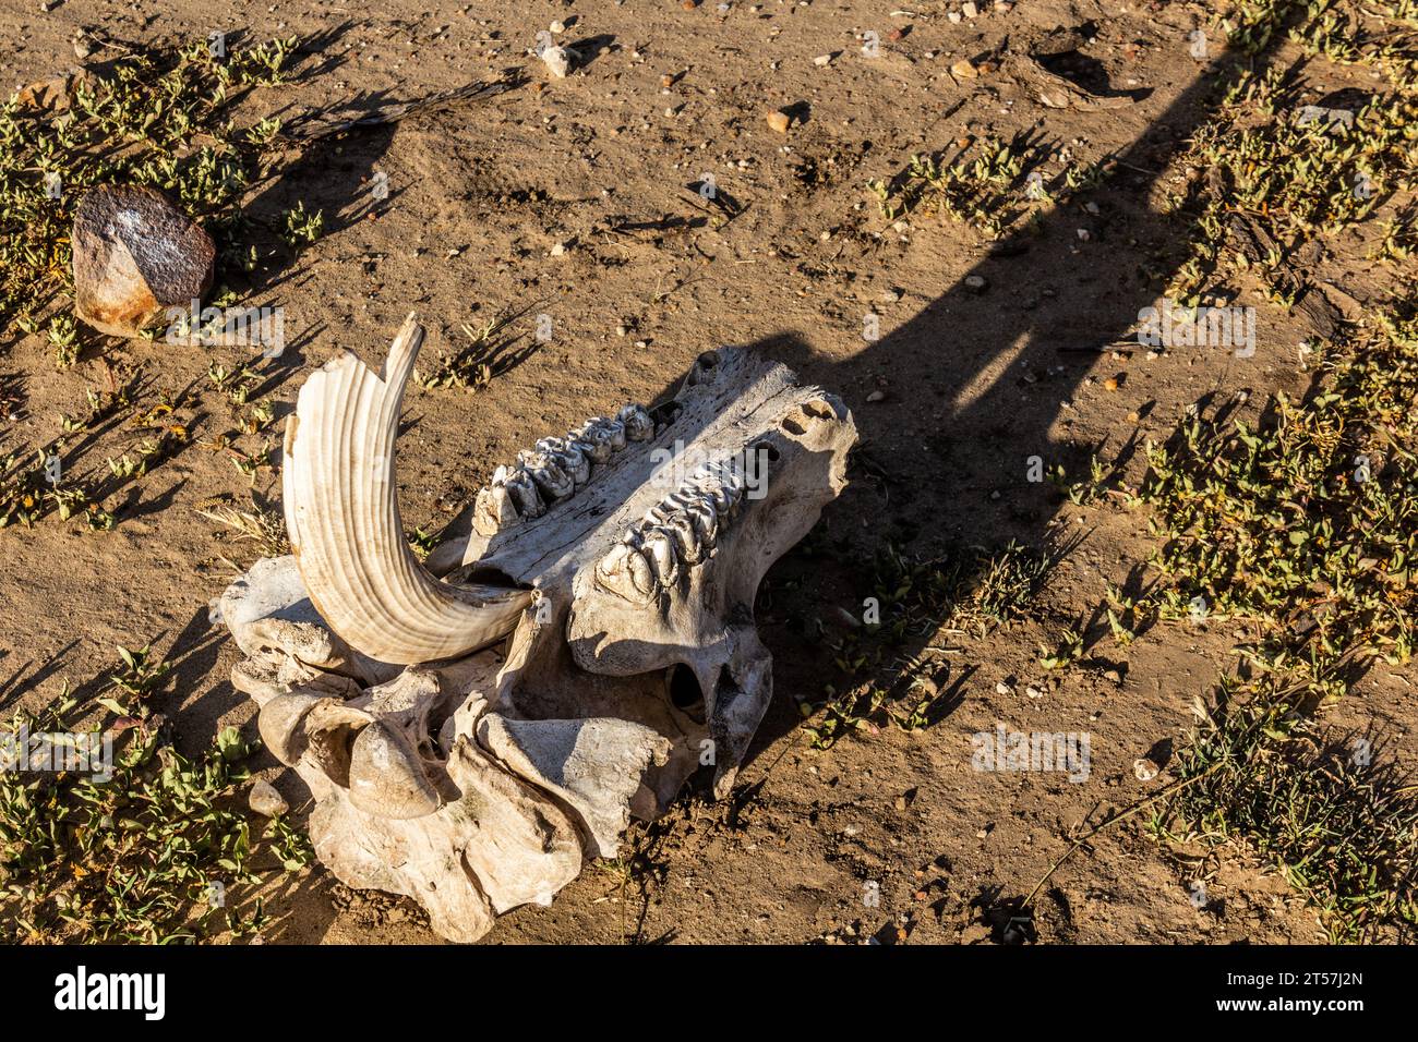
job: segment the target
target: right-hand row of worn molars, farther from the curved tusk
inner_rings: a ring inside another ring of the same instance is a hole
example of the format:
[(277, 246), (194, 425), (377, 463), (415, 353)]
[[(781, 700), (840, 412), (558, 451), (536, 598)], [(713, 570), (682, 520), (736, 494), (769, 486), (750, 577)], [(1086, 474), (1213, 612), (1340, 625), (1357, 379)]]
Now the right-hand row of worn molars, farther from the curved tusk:
[(597, 583), (632, 604), (649, 604), (713, 556), (719, 526), (737, 510), (743, 489), (736, 462), (705, 464), (596, 563)]

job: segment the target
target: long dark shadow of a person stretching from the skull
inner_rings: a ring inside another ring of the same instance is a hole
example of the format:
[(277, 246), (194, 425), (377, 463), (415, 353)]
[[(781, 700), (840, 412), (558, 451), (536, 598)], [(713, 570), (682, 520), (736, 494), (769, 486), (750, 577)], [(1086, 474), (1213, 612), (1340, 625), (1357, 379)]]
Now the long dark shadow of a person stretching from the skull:
[[(1272, 34), (1280, 38), (1283, 31)], [(1090, 374), (1115, 376), (1099, 364), (1113, 346), (1132, 337), (1137, 349), (1140, 309), (1156, 302), (1184, 259), (1173, 248), (1159, 261), (1159, 247), (1177, 238), (1176, 224), (1149, 210), (1147, 197), (1194, 129), (1215, 112), (1217, 85), (1246, 65), (1263, 68), (1275, 47), (1252, 57), (1222, 54), (1198, 67), (1191, 86), (1113, 155), (1113, 181), (1024, 223), (947, 292), (852, 356), (830, 357), (797, 336), (752, 344), (804, 381), (839, 393), (852, 408), (861, 442), (849, 471), (855, 481), (824, 510), (820, 532), (764, 580), (773, 604), (764, 612), (760, 597), (760, 629), (774, 654), (780, 698), (754, 736), (740, 784), (771, 767), (756, 770), (754, 761), (800, 726), (798, 699), (818, 700), (824, 679), (831, 679), (822, 669), (831, 659), (825, 641), (801, 621), (827, 617), (834, 604), (859, 608), (862, 576), (849, 563), (854, 556), (869, 560), (869, 547), (886, 543), (913, 543), (932, 553), (1003, 547), (1011, 540), (1049, 546), (1062, 496), (1046, 481), (1027, 479), (1029, 458), (1041, 458), (1046, 469), (1062, 465), (1071, 475), (1086, 469), (1089, 447), (1061, 435), (1066, 430), (1061, 421)], [(1089, 74), (1086, 61), (1051, 61)], [(1099, 214), (1082, 210), (1089, 200)], [(1081, 227), (1086, 238), (1078, 234)], [(1219, 379), (1235, 363), (1217, 349), (1215, 364)], [(896, 377), (885, 400), (868, 398), (886, 371)], [(1136, 454), (1136, 439), (1122, 452)], [(1140, 576), (1130, 581), (1139, 586)], [(927, 642), (929, 637), (915, 638), (895, 652), (910, 661)], [(794, 689), (807, 683), (815, 688)], [(790, 692), (793, 698), (783, 698)], [(959, 703), (956, 690), (944, 712)]]

